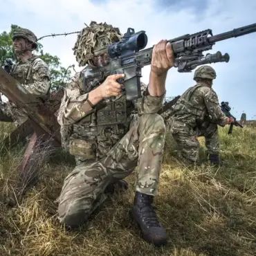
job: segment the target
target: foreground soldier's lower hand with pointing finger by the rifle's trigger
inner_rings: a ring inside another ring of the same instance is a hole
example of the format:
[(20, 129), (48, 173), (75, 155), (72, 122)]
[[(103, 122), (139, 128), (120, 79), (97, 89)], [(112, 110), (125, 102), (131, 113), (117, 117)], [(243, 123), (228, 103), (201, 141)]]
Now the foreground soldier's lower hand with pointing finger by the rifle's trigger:
[(124, 74), (109, 75), (99, 86), (102, 98), (120, 95), (122, 84), (119, 84), (116, 80), (123, 77), (125, 77)]

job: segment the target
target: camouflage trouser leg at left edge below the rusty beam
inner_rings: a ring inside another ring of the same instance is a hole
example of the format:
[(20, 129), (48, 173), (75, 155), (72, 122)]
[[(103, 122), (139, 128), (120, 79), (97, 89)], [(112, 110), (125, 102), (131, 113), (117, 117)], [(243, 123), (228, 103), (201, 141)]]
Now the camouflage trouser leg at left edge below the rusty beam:
[(21, 109), (10, 102), (0, 102), (0, 109), (6, 116), (12, 118), (16, 127), (28, 119), (28, 116)]

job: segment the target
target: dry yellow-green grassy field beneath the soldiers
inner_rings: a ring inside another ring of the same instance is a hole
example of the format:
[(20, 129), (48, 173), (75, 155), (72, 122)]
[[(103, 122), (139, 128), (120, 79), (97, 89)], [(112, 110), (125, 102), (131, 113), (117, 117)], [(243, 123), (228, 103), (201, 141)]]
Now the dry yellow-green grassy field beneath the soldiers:
[[(1, 138), (12, 129), (0, 123)], [(220, 129), (221, 156), (228, 167), (185, 167), (167, 134), (161, 183), (155, 206), (170, 237), (154, 248), (140, 238), (129, 219), (135, 173), (129, 190), (114, 194), (80, 230), (67, 231), (57, 221), (55, 199), (73, 169), (68, 156), (42, 167), (42, 176), (21, 204), (10, 208), (16, 167), (24, 149), (1, 148), (0, 255), (256, 255), (256, 128)], [(201, 157), (205, 158), (203, 139)]]

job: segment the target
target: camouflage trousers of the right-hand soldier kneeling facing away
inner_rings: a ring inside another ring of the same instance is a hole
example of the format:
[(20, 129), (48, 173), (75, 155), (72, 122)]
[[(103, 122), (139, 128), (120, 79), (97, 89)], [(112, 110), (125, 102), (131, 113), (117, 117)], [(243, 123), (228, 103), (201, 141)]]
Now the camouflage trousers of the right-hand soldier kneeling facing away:
[(187, 163), (199, 162), (200, 143), (197, 137), (205, 137), (205, 147), (208, 154), (219, 154), (218, 126), (210, 122), (203, 122), (200, 127), (194, 129), (184, 122), (171, 120), (170, 131), (179, 147), (178, 156)]

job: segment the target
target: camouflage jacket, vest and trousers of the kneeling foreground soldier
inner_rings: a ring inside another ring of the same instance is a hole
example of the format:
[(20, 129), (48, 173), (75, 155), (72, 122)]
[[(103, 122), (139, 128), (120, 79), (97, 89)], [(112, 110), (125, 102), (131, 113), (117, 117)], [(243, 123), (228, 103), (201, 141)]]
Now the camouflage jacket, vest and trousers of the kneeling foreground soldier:
[(136, 191), (155, 195), (165, 141), (163, 118), (157, 114), (164, 95), (152, 97), (146, 90), (135, 104), (121, 95), (98, 109), (87, 100), (89, 91), (81, 93), (80, 82), (74, 78), (66, 89), (58, 113), (62, 145), (77, 162), (59, 198), (60, 221), (67, 226), (84, 221), (107, 198), (107, 185), (124, 179), (137, 165)]

